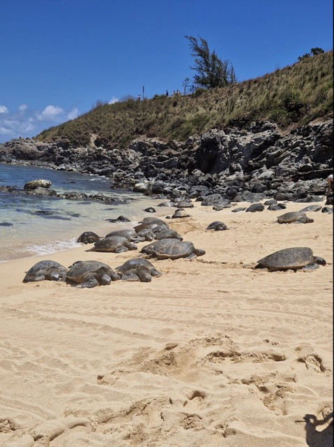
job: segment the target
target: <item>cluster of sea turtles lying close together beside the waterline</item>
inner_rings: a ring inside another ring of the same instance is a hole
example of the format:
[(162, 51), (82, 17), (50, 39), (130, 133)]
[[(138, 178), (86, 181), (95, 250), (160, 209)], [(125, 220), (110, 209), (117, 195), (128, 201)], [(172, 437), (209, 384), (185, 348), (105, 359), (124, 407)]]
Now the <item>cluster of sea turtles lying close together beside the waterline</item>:
[[(108, 251), (121, 253), (123, 251), (137, 249), (137, 242), (153, 241), (144, 246), (142, 254), (157, 259), (193, 259), (202, 256), (205, 251), (196, 249), (192, 242), (183, 241), (183, 237), (175, 230), (169, 228), (162, 219), (146, 217), (133, 230), (115, 230), (101, 238), (91, 231), (85, 231), (77, 239), (77, 242), (94, 244), (89, 251)], [(24, 282), (42, 281), (66, 281), (67, 284), (80, 288), (91, 288), (98, 285), (107, 285), (111, 281), (122, 279), (123, 281), (149, 282), (152, 277), (160, 277), (161, 272), (146, 258), (133, 258), (123, 265), (112, 270), (109, 265), (99, 261), (77, 261), (67, 269), (56, 261), (40, 261), (26, 272)]]

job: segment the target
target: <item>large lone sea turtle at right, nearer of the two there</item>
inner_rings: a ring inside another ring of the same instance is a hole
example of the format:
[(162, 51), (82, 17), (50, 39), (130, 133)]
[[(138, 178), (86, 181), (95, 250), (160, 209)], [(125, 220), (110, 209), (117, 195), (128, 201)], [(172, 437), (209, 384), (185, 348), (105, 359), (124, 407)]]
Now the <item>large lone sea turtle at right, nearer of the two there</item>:
[(269, 254), (257, 261), (256, 268), (267, 268), (269, 272), (277, 270), (315, 270), (319, 265), (326, 265), (324, 258), (313, 256), (308, 247), (292, 247)]

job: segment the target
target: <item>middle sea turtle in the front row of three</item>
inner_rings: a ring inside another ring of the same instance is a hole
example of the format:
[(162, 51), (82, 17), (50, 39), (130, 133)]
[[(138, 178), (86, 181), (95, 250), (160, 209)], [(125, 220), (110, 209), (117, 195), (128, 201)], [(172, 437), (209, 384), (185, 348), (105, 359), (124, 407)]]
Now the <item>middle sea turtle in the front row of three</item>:
[(106, 286), (120, 279), (119, 275), (105, 263), (99, 261), (77, 261), (68, 268), (66, 282), (80, 288)]

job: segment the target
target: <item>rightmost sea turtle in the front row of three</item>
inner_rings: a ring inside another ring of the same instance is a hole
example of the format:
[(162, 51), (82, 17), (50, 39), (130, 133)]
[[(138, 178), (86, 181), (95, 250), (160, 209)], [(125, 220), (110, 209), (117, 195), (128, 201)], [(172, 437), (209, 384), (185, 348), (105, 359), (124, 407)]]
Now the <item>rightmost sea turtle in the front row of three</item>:
[(123, 265), (119, 265), (115, 270), (123, 281), (150, 282), (152, 277), (162, 275), (150, 261), (143, 258), (130, 259)]

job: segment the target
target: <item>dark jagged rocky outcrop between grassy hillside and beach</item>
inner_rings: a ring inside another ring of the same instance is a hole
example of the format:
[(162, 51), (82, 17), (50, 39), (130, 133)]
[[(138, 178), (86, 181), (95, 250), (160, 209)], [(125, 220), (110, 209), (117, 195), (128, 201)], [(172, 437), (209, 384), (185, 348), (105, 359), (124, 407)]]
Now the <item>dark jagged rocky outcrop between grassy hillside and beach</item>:
[[(0, 161), (105, 175), (113, 186), (166, 198), (219, 194), (225, 200), (317, 201), (332, 173), (333, 122), (283, 133), (274, 123), (211, 129), (185, 142), (140, 138), (126, 149), (18, 139)], [(218, 200), (219, 202), (219, 200)]]

